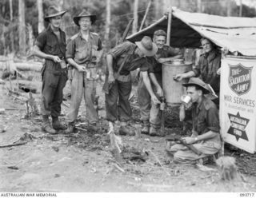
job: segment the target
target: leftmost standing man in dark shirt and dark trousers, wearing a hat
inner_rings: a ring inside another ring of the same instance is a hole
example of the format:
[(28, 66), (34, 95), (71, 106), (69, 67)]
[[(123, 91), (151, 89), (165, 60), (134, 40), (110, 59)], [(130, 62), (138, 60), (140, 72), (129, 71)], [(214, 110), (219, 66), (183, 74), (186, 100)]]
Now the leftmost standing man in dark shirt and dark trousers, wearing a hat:
[[(61, 113), (62, 90), (67, 81), (66, 69), (66, 34), (60, 29), (62, 16), (66, 11), (59, 11), (50, 6), (45, 17), (49, 26), (38, 35), (34, 46), (34, 55), (46, 59), (42, 68), (42, 130), (46, 133), (57, 133), (66, 129), (58, 117)], [(49, 116), (52, 117), (50, 125)]]

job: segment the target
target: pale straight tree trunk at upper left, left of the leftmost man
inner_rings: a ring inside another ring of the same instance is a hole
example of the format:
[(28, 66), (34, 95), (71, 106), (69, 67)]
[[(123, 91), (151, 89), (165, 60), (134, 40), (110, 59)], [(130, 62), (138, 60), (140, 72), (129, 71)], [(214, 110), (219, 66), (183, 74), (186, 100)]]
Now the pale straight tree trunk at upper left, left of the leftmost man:
[(18, 0), (18, 46), (21, 55), (26, 54), (25, 0)]

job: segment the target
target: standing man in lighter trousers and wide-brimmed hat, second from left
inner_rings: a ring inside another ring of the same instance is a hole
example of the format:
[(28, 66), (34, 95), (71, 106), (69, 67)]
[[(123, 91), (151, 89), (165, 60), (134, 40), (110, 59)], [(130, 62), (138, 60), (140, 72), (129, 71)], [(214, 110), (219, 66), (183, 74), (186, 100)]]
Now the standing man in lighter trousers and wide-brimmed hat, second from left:
[(68, 129), (66, 132), (74, 132), (74, 121), (78, 117), (82, 95), (86, 101), (86, 119), (89, 122), (89, 128), (97, 131), (98, 113), (94, 107), (96, 101), (96, 65), (98, 62), (97, 54), (102, 49), (102, 42), (98, 34), (90, 31), (91, 26), (96, 21), (96, 15), (82, 11), (73, 20), (80, 27), (80, 31), (70, 38), (66, 49), (66, 59), (74, 68), (72, 70), (71, 105), (67, 113)]

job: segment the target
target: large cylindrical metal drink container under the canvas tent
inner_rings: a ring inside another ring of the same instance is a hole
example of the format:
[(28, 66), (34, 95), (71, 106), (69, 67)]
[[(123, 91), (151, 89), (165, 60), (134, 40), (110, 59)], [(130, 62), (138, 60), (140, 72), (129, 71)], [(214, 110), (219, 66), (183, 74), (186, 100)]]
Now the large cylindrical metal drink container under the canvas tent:
[(177, 81), (174, 77), (179, 73), (186, 73), (190, 70), (192, 70), (192, 63), (184, 62), (182, 59), (162, 64), (162, 88), (167, 105), (179, 106), (181, 104), (181, 97), (186, 94), (186, 88), (182, 84), (189, 79)]

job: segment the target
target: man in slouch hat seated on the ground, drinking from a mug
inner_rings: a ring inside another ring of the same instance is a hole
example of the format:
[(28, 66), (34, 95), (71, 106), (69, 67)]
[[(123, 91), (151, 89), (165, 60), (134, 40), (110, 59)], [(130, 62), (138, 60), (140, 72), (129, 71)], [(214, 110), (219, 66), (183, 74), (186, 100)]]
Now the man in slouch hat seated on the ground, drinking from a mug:
[(193, 123), (192, 136), (183, 137), (187, 145), (193, 145), (201, 154), (198, 155), (184, 145), (176, 144), (170, 148), (174, 161), (183, 164), (196, 164), (197, 160), (218, 152), (221, 148), (218, 109), (213, 101), (204, 94), (210, 93), (208, 85), (197, 77), (191, 77), (186, 87), (190, 103), (182, 103), (180, 120), (191, 119)]

